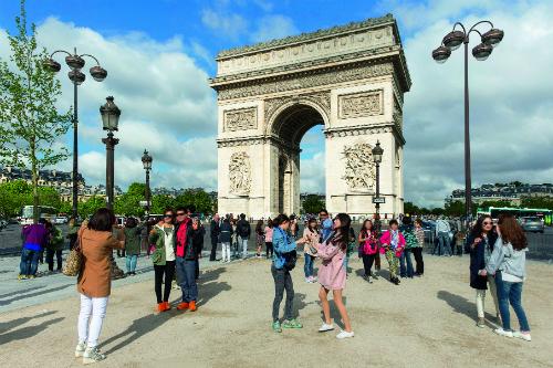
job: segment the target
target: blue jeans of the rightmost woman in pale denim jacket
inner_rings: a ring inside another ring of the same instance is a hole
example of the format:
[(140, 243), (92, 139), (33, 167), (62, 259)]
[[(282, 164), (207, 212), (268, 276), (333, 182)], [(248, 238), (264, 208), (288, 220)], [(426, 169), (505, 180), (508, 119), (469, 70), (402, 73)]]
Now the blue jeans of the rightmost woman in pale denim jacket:
[(522, 307), (521, 303), (522, 284), (523, 283), (511, 283), (508, 281), (502, 281), (501, 272), (495, 273), (499, 312), (501, 314), (501, 320), (503, 322), (504, 330), (511, 330), (511, 315), (509, 312), (509, 303), (511, 303), (514, 314), (517, 314), (517, 318), (519, 318), (521, 332), (530, 332), (526, 314), (524, 313), (524, 308)]

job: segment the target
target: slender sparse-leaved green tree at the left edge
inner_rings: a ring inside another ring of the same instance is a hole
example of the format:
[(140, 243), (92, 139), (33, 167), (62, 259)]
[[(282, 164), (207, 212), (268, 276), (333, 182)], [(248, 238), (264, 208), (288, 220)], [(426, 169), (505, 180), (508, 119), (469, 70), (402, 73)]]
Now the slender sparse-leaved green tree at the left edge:
[(39, 220), (39, 170), (67, 157), (65, 147), (54, 143), (67, 132), (71, 114), (60, 115), (55, 102), (61, 84), (42, 62), (49, 56), (36, 44), (36, 27), (28, 33), (25, 2), (15, 17), (17, 32), (9, 31), (9, 57), (0, 60), (0, 162), (25, 168), (32, 174), (34, 221)]

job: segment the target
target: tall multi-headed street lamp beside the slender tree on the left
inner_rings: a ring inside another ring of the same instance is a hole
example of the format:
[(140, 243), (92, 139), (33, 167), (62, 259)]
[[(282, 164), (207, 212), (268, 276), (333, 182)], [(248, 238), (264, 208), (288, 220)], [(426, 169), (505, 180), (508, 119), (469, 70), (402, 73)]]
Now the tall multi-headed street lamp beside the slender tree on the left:
[(96, 82), (102, 82), (105, 80), (107, 76), (107, 71), (100, 66), (100, 62), (96, 57), (90, 54), (82, 54), (79, 55), (76, 53), (76, 48), (74, 49), (73, 53), (70, 53), (64, 50), (58, 50), (54, 51), (49, 59), (44, 60), (43, 65), (46, 70), (58, 73), (61, 70), (61, 64), (53, 60), (54, 54), (56, 53), (64, 53), (66, 54), (65, 56), (65, 63), (67, 66), (71, 69), (71, 71), (67, 73), (67, 76), (70, 81), (73, 83), (73, 208), (72, 208), (72, 215), (74, 219), (77, 218), (77, 206), (79, 206), (79, 99), (77, 99), (77, 86), (81, 85), (84, 80), (86, 78), (86, 75), (81, 72), (81, 70), (84, 67), (84, 59), (83, 57), (91, 57), (96, 62), (96, 65), (91, 67), (90, 73), (94, 81)]

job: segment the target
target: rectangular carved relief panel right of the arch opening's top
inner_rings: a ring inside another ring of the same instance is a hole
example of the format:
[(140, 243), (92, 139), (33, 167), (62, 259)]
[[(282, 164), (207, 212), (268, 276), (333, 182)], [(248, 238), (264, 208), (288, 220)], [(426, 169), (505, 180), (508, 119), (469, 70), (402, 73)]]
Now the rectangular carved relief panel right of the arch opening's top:
[(340, 118), (382, 115), (383, 92), (371, 91), (338, 96)]

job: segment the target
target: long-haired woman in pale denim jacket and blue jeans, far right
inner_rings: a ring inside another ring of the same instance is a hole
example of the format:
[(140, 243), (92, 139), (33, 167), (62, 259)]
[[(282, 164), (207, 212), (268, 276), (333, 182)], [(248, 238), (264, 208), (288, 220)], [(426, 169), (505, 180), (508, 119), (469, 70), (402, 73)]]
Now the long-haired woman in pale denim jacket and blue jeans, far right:
[[(499, 311), (502, 328), (497, 328), (498, 335), (518, 337), (530, 341), (530, 326), (526, 313), (522, 307), (522, 286), (526, 276), (528, 242), (524, 231), (511, 214), (503, 214), (498, 222), (498, 240), (493, 253), (481, 274), (495, 275), (498, 284)], [(520, 332), (511, 330), (509, 304), (519, 318)]]

